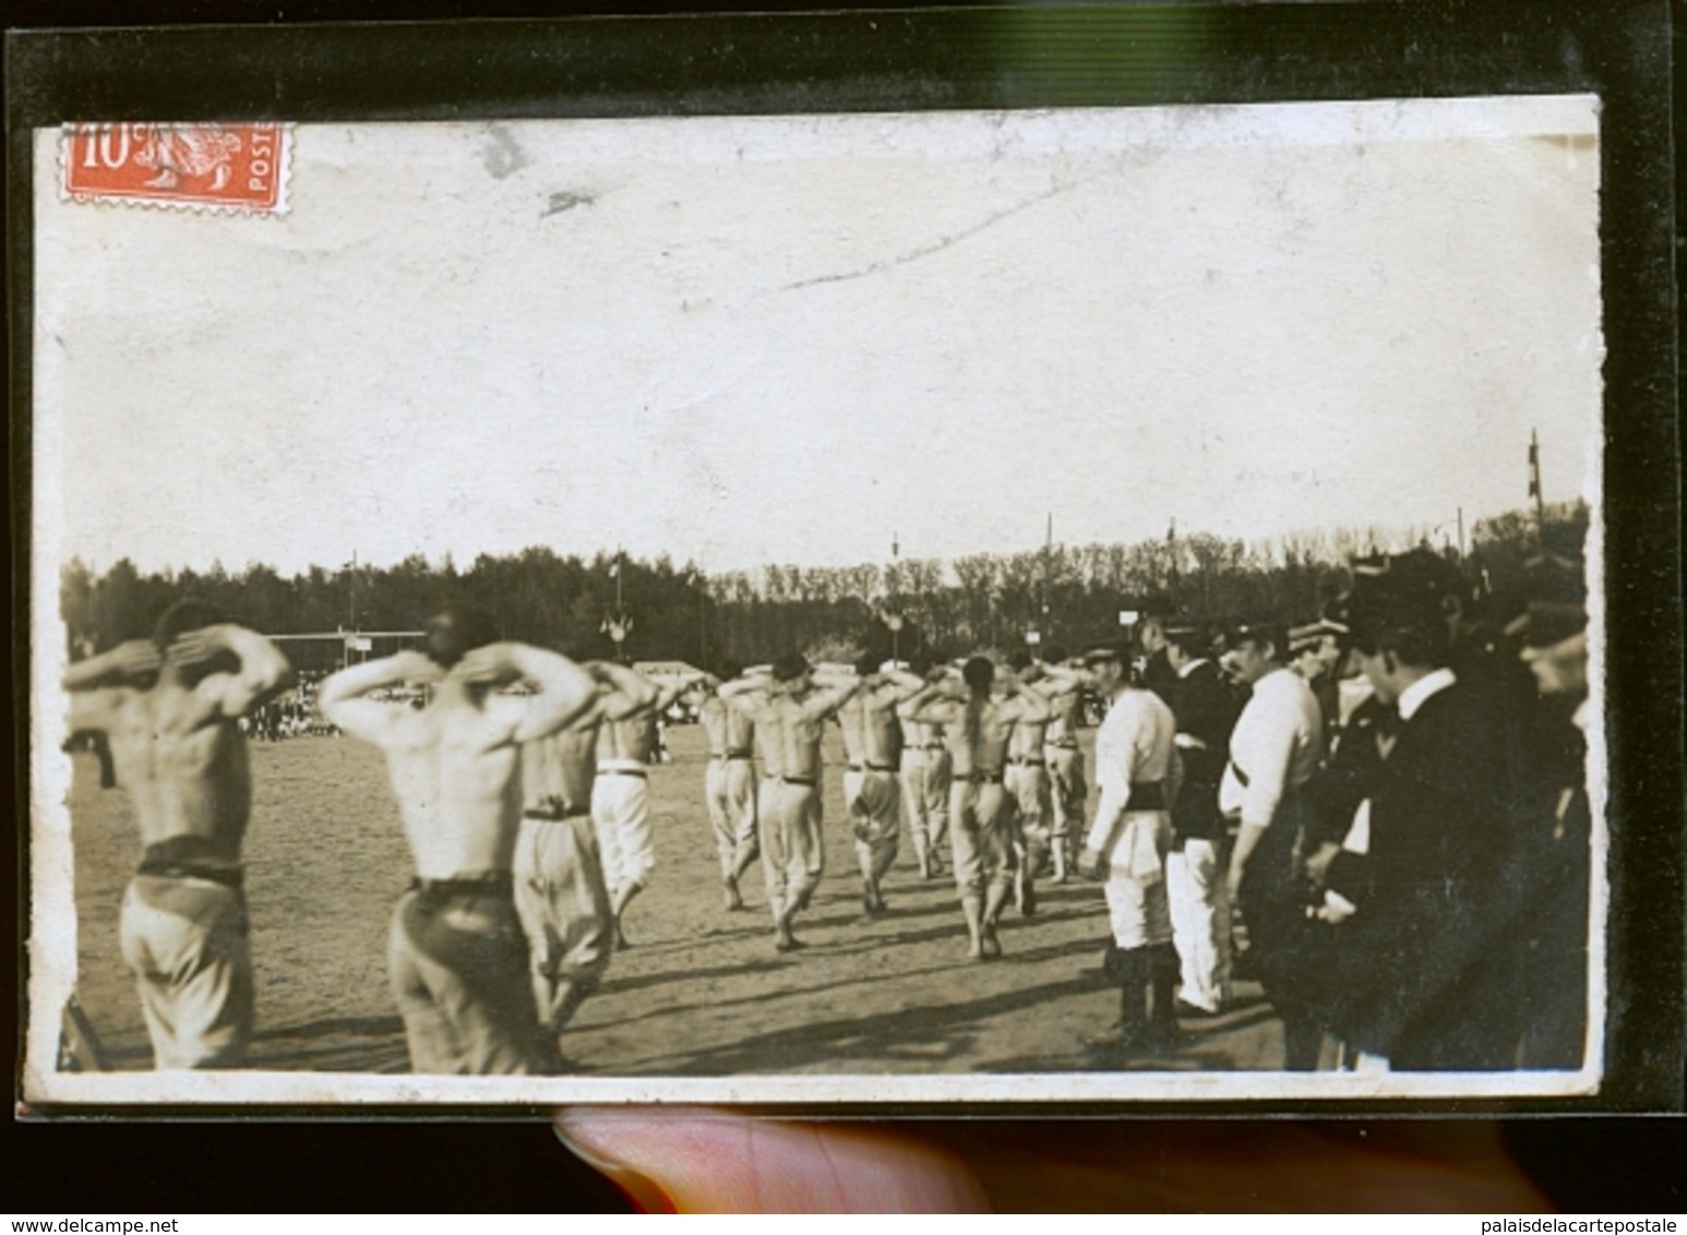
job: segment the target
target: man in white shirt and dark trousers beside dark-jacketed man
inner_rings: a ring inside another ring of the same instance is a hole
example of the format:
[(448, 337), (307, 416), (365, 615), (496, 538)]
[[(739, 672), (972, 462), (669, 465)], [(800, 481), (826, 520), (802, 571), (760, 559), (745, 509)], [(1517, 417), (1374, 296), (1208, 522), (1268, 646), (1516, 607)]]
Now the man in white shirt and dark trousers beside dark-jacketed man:
[(1318, 771), (1324, 722), (1306, 678), (1284, 665), (1287, 646), (1275, 623), (1233, 631), (1225, 658), (1252, 695), (1230, 734), (1218, 805), (1238, 820), (1226, 891), (1242, 908), (1255, 973), (1284, 1022), (1284, 1066), (1309, 1071), (1323, 1044), (1311, 992), (1321, 930), (1307, 920), (1301, 790)]

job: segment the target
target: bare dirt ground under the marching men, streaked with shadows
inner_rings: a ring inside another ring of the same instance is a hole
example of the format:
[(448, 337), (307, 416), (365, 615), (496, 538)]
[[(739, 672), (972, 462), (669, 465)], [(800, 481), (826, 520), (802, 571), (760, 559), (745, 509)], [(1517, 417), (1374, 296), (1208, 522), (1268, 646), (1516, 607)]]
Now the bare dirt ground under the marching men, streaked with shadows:
[[(1086, 736), (1088, 737), (1088, 736)], [(1043, 1073), (1117, 1068), (1083, 1033), (1117, 1017), (1100, 973), (1107, 913), (1097, 884), (1044, 882), (1034, 918), (1009, 908), (1004, 957), (965, 957), (953, 882), (923, 882), (913, 844), (886, 879), (891, 911), (862, 916), (840, 796), (842, 747), (827, 744), (827, 876), (781, 955), (761, 879), (749, 909), (720, 903), (703, 812), (703, 736), (668, 731), (673, 763), (649, 778), (658, 871), (628, 914), (633, 948), (567, 1034), (577, 1070), (597, 1076), (768, 1073)], [(255, 803), (246, 889), (258, 984), (250, 1065), (263, 1070), (407, 1071), (386, 987), (386, 931), (410, 876), (380, 754), (300, 737), (251, 747)], [(98, 788), (76, 758), (78, 995), (116, 1068), (150, 1066), (140, 1007), (116, 946), (116, 913), (138, 855), (121, 791)], [(1147, 1070), (1275, 1068), (1279, 1022), (1242, 985), (1220, 1017), (1184, 1021), (1174, 1053)]]

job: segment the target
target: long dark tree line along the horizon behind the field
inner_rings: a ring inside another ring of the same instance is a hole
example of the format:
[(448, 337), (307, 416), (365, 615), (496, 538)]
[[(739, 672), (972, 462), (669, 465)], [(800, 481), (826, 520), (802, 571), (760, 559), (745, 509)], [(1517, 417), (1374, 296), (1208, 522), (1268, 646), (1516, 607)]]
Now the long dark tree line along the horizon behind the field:
[[(1549, 543), (1579, 550), (1587, 508), (1547, 510)], [(386, 567), (310, 567), (282, 577), (253, 564), (238, 572), (142, 574), (128, 558), (96, 574), (81, 560), (61, 575), (61, 612), (71, 656), (150, 631), (182, 596), (197, 596), (270, 636), (415, 631), (447, 599), (493, 614), (504, 638), (607, 656), (617, 614), (631, 660), (717, 665), (761, 661), (784, 650), (850, 656), (870, 648), (901, 656), (1005, 651), (1036, 633), (1043, 646), (1075, 648), (1118, 631), (1129, 612), (1179, 612), (1199, 619), (1277, 616), (1311, 621), (1345, 582), (1358, 555), (1429, 543), (1380, 530), (1326, 530), (1242, 542), (1208, 533), (1113, 545), (1049, 545), (1021, 553), (953, 560), (892, 558), (854, 567), (766, 565), (707, 574), (666, 555), (560, 555), (547, 547), (482, 553), (464, 570), (449, 557), (422, 555)], [(1458, 557), (1456, 547), (1436, 545)], [(1508, 511), (1474, 525), (1463, 564), (1505, 604), (1525, 585), (1540, 553), (1535, 511)], [(287, 644), (295, 663), (339, 663), (344, 643)], [(386, 651), (391, 646), (380, 646)]]

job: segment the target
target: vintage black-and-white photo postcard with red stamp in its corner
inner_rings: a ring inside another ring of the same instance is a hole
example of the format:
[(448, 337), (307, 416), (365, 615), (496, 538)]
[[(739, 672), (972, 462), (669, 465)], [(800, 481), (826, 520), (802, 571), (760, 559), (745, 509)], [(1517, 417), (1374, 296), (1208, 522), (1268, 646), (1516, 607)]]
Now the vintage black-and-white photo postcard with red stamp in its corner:
[(1599, 1092), (1594, 94), (30, 137), (27, 1103)]

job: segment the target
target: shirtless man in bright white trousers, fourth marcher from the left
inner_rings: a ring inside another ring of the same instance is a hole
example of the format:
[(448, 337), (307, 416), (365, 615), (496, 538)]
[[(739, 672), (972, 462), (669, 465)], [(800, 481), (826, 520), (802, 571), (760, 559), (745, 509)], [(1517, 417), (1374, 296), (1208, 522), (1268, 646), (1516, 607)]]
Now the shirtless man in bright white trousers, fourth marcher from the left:
[[(633, 670), (628, 670), (629, 673)], [(626, 935), (626, 911), (644, 891), (656, 869), (656, 845), (649, 832), (649, 766), (658, 763), (661, 734), (656, 722), (663, 709), (700, 682), (702, 675), (678, 677), (653, 688), (648, 705), (619, 719), (604, 717), (597, 727), (597, 779), (592, 783), (592, 827), (604, 855), (609, 908), (616, 920), (616, 946), (633, 946)]]

